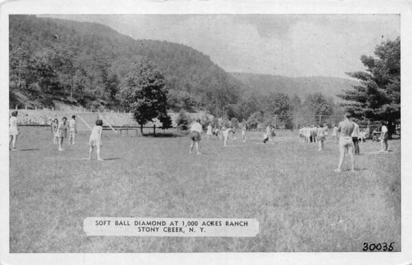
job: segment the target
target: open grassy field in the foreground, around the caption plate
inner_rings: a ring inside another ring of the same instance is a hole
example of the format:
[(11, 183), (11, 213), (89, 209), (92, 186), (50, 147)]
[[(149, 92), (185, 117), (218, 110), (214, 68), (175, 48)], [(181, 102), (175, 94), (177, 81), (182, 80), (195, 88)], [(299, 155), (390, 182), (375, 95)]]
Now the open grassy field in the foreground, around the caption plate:
[[(362, 251), (395, 242), (400, 251), (400, 140), (361, 144), (334, 173), (337, 144), (301, 144), (279, 132), (247, 142), (115, 136), (104, 131), (104, 162), (83, 160), (88, 134), (59, 152), (45, 128), (21, 128), (10, 152), (10, 252)], [(94, 157), (95, 158), (95, 157)], [(255, 238), (85, 236), (88, 216), (256, 218)]]

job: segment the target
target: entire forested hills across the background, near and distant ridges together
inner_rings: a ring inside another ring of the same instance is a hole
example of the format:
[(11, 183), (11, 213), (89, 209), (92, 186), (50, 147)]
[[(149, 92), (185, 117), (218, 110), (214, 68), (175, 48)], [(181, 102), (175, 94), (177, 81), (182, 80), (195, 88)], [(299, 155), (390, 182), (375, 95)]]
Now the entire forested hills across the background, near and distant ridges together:
[(253, 124), (271, 123), (275, 115), (334, 114), (339, 106), (332, 97), (354, 84), (330, 77), (226, 73), (209, 56), (185, 45), (134, 40), (96, 23), (27, 15), (10, 16), (9, 60), (13, 108), (66, 103), (130, 110), (130, 102), (137, 100), (128, 98), (133, 94), (130, 81), (139, 79), (139, 64), (159, 70), (150, 73), (165, 84), (159, 87), (166, 91), (164, 108), (207, 110)]

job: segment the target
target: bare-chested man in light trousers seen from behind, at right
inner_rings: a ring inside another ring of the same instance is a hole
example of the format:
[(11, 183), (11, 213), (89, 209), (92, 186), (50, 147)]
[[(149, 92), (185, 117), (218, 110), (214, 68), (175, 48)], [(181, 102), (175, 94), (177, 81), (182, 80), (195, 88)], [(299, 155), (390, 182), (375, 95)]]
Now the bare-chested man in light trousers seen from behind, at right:
[(345, 159), (345, 150), (350, 155), (350, 162), (352, 165), (351, 171), (355, 171), (355, 159), (354, 159), (354, 142), (352, 141), (352, 131), (354, 131), (355, 124), (350, 120), (351, 114), (345, 114), (345, 120), (339, 123), (338, 131), (341, 133), (339, 138), (339, 164), (335, 172), (342, 171), (343, 160)]

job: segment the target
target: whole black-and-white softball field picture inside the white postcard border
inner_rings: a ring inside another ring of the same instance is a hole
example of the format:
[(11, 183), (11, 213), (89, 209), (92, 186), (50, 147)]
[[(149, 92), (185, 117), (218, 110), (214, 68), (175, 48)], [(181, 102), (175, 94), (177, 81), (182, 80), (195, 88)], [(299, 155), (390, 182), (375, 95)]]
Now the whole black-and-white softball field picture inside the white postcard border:
[(400, 12), (28, 11), (1, 13), (9, 255), (410, 247)]

